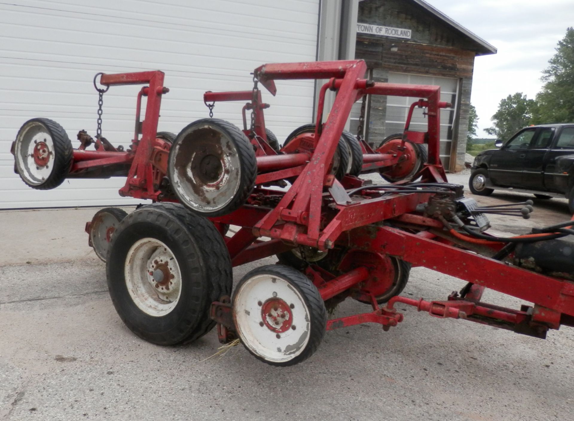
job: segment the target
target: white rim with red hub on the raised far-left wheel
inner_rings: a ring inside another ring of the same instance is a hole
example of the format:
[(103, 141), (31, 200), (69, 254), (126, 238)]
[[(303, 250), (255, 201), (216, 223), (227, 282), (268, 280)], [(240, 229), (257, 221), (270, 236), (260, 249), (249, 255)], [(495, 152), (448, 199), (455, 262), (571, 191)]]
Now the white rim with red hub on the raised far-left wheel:
[(28, 184), (37, 186), (46, 181), (54, 170), (54, 154), (54, 141), (44, 124), (29, 122), (20, 129), (16, 138), (16, 166)]

